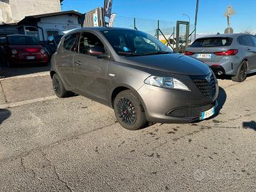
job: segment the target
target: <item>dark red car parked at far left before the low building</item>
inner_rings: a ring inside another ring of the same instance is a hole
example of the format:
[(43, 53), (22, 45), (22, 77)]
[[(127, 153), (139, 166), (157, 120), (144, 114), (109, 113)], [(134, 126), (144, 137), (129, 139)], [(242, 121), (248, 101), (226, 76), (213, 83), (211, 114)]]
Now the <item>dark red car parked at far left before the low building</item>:
[(9, 35), (3, 48), (6, 66), (41, 63), (48, 65), (49, 57), (43, 46), (33, 36)]

